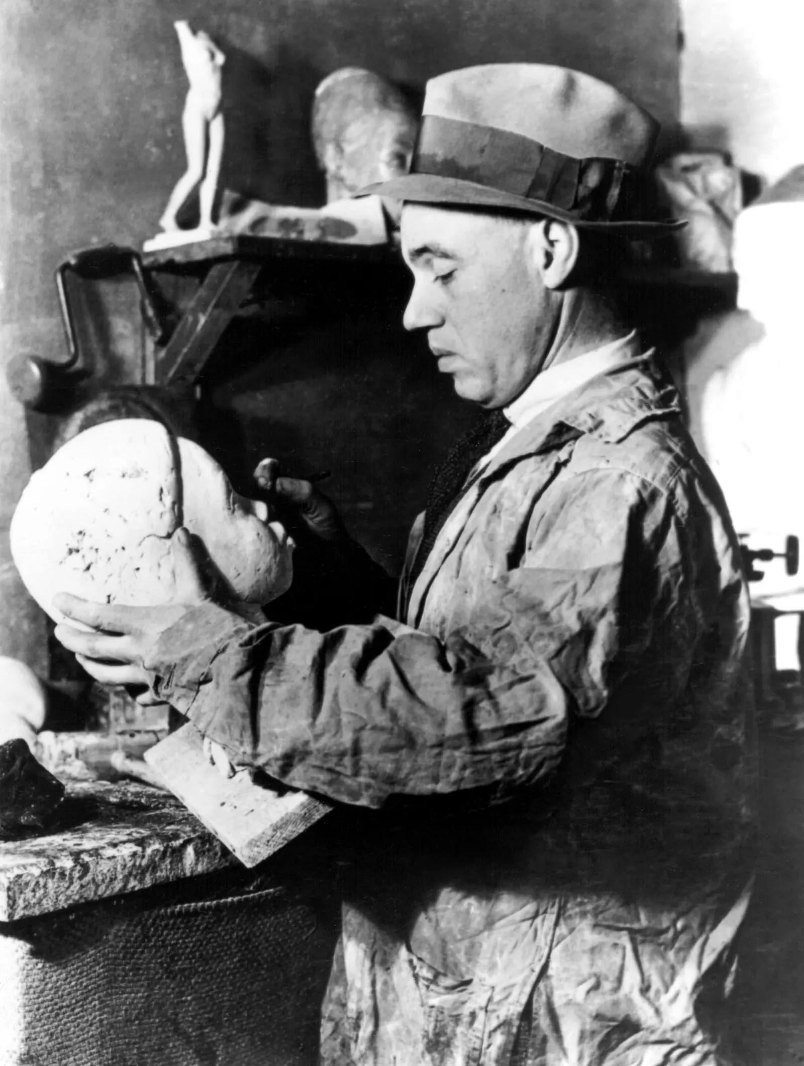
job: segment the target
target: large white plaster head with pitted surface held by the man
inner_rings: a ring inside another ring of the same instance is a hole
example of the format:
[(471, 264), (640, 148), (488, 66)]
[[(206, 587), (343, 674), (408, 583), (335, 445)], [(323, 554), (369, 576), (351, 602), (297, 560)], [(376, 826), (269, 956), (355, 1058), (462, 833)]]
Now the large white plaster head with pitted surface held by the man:
[(85, 430), (33, 474), (12, 520), (12, 554), (55, 621), (60, 592), (157, 607), (175, 598), (171, 537), (180, 526), (203, 540), (237, 601), (259, 607), (290, 586), (293, 542), (268, 505), (238, 496), (203, 448), (146, 419)]

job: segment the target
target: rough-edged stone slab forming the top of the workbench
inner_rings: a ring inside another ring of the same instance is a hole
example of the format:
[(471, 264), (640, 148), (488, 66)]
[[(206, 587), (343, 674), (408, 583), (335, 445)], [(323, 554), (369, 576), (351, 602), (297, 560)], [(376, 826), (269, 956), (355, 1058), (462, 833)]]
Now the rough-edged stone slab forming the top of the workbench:
[(0, 921), (49, 914), (237, 860), (174, 796), (136, 784), (66, 782), (62, 826), (0, 842)]

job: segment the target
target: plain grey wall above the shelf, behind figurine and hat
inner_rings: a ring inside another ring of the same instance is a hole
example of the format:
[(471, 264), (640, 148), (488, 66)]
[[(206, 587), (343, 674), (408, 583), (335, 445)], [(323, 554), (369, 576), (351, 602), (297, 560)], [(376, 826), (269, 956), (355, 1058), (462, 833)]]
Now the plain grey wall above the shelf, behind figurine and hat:
[(308, 112), (345, 64), (421, 86), (473, 63), (558, 63), (678, 117), (673, 0), (3, 0), (3, 321), (53, 312), (66, 249), (155, 230), (183, 162), (176, 18), (264, 64), (266, 192), (280, 203), (321, 197)]

